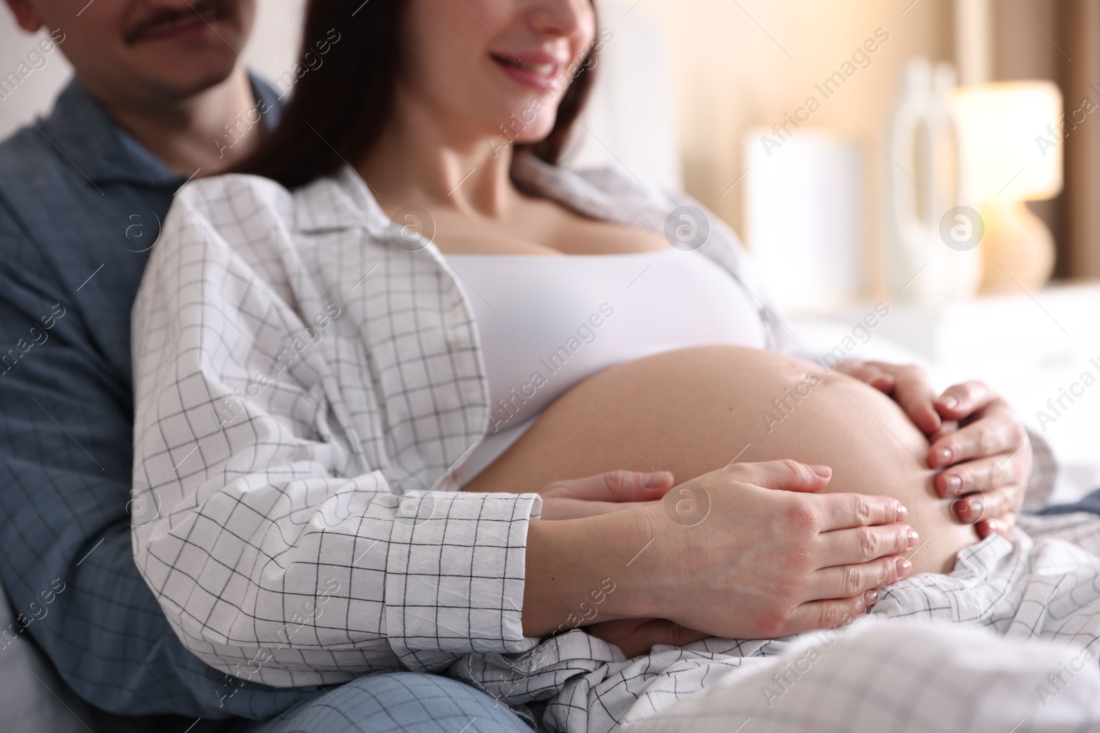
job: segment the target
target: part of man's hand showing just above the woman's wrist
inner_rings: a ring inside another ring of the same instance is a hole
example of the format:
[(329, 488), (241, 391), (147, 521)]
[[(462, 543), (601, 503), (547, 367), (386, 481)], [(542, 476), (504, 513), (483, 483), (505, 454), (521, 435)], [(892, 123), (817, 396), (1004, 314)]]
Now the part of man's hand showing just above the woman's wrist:
[(610, 470), (597, 476), (571, 478), (548, 485), (542, 497), (542, 519), (581, 519), (658, 501), (672, 488), (672, 474), (658, 470)]

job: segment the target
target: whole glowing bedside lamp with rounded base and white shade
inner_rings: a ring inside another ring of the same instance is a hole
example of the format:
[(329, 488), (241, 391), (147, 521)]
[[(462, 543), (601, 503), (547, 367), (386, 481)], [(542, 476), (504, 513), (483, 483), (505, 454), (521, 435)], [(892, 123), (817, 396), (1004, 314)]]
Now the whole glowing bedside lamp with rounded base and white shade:
[(1024, 202), (1062, 190), (1062, 92), (1049, 81), (969, 85), (955, 89), (953, 113), (963, 193), (986, 226), (981, 291), (1042, 287), (1054, 236)]

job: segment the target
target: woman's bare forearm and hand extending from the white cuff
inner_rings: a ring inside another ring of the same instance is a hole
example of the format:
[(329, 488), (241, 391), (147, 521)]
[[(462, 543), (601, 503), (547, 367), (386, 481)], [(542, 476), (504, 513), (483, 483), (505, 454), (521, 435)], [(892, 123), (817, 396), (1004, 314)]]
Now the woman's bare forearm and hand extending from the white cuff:
[(697, 524), (673, 521), (686, 496), (678, 489), (645, 508), (532, 522), (525, 634), (660, 618), (707, 635), (768, 638), (855, 619), (877, 588), (904, 577), (895, 556), (914, 544), (900, 502), (817, 495), (828, 477), (793, 460), (733, 464), (681, 485), (707, 496)]

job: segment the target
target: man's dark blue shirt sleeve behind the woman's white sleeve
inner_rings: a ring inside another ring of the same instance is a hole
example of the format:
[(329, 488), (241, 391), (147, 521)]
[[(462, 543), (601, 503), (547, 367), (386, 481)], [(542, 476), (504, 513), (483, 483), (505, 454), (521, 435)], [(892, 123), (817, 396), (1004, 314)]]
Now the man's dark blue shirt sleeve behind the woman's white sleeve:
[(88, 329), (100, 284), (70, 292), (2, 202), (0, 253), (0, 647), (32, 637), (120, 715), (262, 719), (316, 695), (230, 685), (173, 634), (133, 560), (130, 384)]

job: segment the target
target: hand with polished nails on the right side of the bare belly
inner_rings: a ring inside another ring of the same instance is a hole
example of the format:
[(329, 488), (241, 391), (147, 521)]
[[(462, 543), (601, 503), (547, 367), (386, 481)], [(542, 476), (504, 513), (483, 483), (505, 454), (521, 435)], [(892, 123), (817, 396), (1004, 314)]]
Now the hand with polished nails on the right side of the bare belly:
[(936, 397), (924, 369), (883, 362), (842, 362), (837, 371), (886, 392), (928, 436), (928, 467), (942, 497), (960, 497), (954, 513), (979, 537), (1010, 534), (1031, 476), (1023, 422), (987, 385), (968, 381)]

